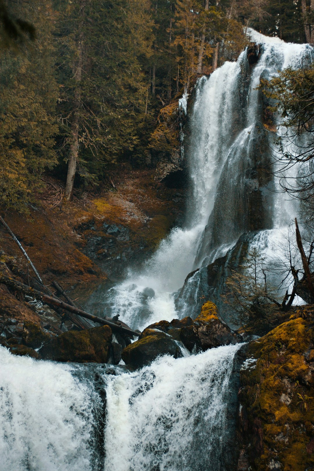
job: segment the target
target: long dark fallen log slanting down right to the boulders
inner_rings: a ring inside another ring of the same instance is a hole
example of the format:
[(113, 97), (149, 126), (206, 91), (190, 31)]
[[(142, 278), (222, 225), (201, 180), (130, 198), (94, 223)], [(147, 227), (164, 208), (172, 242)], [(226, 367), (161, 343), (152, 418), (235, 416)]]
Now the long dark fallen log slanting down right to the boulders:
[(65, 302), (56, 298), (52, 298), (51, 296), (48, 296), (48, 294), (37, 291), (34, 288), (30, 288), (26, 284), (20, 283), (19, 281), (16, 281), (9, 276), (5, 276), (2, 273), (0, 273), (0, 283), (6, 284), (10, 288), (13, 288), (19, 292), (23, 292), (28, 296), (32, 296), (33, 298), (36, 298), (46, 304), (52, 304), (53, 306), (65, 309), (66, 311), (72, 312), (73, 314), (77, 314), (81, 317), (85, 317), (86, 319), (97, 322), (98, 324), (109, 325), (113, 331), (128, 333), (130, 336), (135, 335), (136, 337), (140, 335), (138, 332), (135, 332), (127, 327), (123, 327), (122, 325), (115, 324), (113, 321), (107, 320), (108, 318), (103, 319), (101, 317), (93, 316), (92, 314), (89, 314), (89, 312), (70, 306), (69, 304), (66, 304)]

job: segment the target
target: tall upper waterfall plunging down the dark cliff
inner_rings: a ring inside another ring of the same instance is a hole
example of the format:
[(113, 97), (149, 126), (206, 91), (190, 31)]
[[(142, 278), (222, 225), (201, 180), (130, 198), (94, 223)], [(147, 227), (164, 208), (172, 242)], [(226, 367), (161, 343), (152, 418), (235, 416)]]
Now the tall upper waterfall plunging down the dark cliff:
[[(185, 224), (170, 232), (144, 268), (130, 270), (123, 283), (102, 295), (106, 312), (119, 314), (133, 328), (195, 315), (200, 304), (195, 300), (208, 292), (201, 286), (206, 274), (199, 270), (181, 289), (189, 273), (224, 257), (244, 233), (258, 231), (248, 244), (265, 251), (281, 230), (287, 233), (297, 215), (296, 202), (274, 192), (278, 181), (267, 172), (275, 165), (269, 147), (274, 147), (274, 138), (263, 125), (258, 85), (260, 77), (269, 79), (278, 70), (309, 64), (313, 48), (250, 28), (247, 33), (258, 44), (256, 61), (250, 63), (248, 50), (243, 51), (236, 62), (226, 62), (197, 81), (188, 112), (187, 97), (180, 102), (189, 119), (189, 142), (184, 142), (190, 175)], [(280, 122), (276, 124), (284, 135)], [(219, 295), (211, 294), (219, 303)]]

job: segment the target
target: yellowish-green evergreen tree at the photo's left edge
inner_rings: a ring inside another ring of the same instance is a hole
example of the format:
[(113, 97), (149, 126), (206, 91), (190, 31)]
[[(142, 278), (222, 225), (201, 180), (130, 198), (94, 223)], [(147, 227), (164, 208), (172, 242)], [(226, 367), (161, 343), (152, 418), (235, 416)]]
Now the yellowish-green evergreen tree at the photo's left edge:
[(16, 0), (10, 7), (12, 15), (27, 11), (37, 29), (33, 48), (19, 55), (7, 50), (0, 58), (0, 203), (22, 210), (40, 173), (56, 163), (57, 88), (48, 3)]

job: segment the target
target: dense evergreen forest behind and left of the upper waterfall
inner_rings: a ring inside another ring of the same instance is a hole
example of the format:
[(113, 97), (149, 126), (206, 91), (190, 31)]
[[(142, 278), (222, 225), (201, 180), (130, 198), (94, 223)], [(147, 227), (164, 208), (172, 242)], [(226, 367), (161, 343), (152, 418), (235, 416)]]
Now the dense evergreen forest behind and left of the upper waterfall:
[(277, 3), (0, 1), (1, 203), (23, 208), (47, 169), (71, 199), (74, 183), (98, 184), (108, 165), (171, 152), (177, 98), (237, 58), (243, 25), (311, 35), (306, 0)]

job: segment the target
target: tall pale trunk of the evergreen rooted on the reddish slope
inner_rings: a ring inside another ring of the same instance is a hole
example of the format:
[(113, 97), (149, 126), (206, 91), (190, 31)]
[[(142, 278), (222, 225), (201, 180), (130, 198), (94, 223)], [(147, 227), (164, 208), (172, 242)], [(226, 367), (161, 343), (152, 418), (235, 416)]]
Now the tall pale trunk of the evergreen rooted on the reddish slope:
[(79, 128), (80, 128), (80, 116), (79, 110), (81, 106), (81, 80), (82, 80), (82, 66), (83, 66), (83, 18), (86, 0), (81, 1), (80, 7), (80, 24), (79, 24), (79, 39), (77, 44), (78, 59), (73, 65), (73, 75), (76, 82), (74, 100), (73, 100), (73, 112), (72, 112), (72, 124), (71, 124), (71, 143), (69, 148), (68, 158), (68, 172), (66, 176), (66, 184), (64, 191), (64, 198), (66, 201), (71, 201), (73, 198), (73, 187), (74, 178), (77, 165), (78, 149), (79, 149)]

